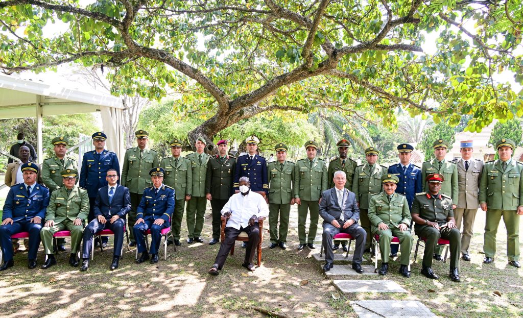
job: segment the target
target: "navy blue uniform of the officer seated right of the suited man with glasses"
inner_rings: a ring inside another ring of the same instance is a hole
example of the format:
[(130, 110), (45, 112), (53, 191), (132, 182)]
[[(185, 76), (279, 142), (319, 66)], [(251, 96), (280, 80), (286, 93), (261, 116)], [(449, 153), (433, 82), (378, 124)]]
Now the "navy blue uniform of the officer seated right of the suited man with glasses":
[[(145, 222), (134, 225), (134, 238), (136, 239), (138, 253), (145, 249), (145, 232), (151, 230), (150, 254), (157, 254), (162, 239), (160, 232), (170, 226), (170, 218), (174, 212), (174, 189), (162, 185), (157, 194), (154, 186), (143, 190), (142, 200), (137, 208), (136, 218)], [(163, 219), (162, 225), (153, 224), (156, 219)]]

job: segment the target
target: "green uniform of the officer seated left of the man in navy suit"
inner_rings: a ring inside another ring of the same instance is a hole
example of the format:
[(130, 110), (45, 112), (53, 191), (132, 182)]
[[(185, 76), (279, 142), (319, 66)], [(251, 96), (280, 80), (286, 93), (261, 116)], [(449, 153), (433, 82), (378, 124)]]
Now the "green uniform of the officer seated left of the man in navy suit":
[(53, 254), (53, 234), (62, 230), (71, 232), (71, 254), (75, 254), (80, 248), (80, 242), (82, 242), (85, 223), (73, 225), (73, 221), (81, 219), (85, 222), (88, 213), (89, 197), (87, 190), (74, 186), (69, 196), (67, 196), (66, 187), (53, 191), (44, 223), (53, 220), (54, 225), (51, 227), (44, 226), (40, 231), (46, 254)]

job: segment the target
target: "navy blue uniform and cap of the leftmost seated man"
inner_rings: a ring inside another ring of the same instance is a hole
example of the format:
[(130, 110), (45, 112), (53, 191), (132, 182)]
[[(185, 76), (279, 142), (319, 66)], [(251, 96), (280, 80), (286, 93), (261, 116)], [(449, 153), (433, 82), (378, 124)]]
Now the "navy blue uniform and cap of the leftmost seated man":
[[(36, 174), (39, 172), (38, 166), (31, 162), (21, 166), (22, 172), (26, 170), (33, 171)], [(30, 186), (29, 191), (27, 187), (25, 183), (11, 187), (5, 200), (2, 221), (12, 219), (13, 224), (0, 225), (0, 242), (4, 254), (4, 264), (1, 270), (5, 270), (14, 264), (11, 235), (19, 232), (29, 232), (29, 267), (36, 267), (36, 256), (40, 246), (40, 230), (49, 205), (49, 189), (38, 183)], [(41, 222), (31, 223), (31, 219), (35, 217), (39, 217)], [(31, 262), (33, 266), (31, 266)]]

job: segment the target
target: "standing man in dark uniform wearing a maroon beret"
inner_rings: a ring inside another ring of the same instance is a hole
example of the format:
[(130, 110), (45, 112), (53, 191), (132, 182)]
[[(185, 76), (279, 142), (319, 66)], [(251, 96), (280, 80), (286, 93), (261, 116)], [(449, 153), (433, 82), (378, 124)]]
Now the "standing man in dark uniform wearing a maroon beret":
[(236, 158), (227, 154), (227, 141), (220, 140), (216, 145), (218, 154), (209, 158), (205, 179), (206, 197), (212, 208), (212, 240), (209, 245), (218, 243), (220, 239), (221, 210), (233, 194), (236, 167)]

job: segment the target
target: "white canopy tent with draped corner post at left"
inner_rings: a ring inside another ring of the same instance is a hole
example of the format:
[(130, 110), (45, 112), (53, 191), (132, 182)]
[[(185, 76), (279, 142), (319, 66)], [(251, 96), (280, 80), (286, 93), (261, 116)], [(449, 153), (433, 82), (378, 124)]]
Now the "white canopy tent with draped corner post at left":
[[(0, 74), (0, 119), (37, 118), (38, 161), (43, 161), (43, 116), (71, 115), (75, 113), (101, 113), (106, 148), (123, 160), (123, 103), (118, 97), (91, 91), (71, 89), (60, 84), (27, 81)], [(93, 131), (94, 132), (94, 131)], [(86, 131), (90, 135), (93, 132)]]

